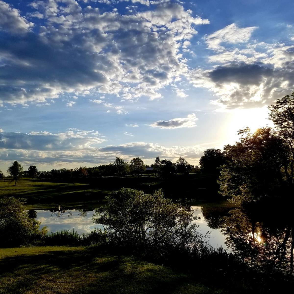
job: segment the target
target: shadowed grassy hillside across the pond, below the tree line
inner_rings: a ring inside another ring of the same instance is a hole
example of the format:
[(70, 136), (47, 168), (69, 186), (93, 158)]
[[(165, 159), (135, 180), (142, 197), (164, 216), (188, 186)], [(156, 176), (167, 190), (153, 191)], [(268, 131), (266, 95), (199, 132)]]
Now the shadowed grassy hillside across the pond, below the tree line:
[(28, 199), (28, 203), (78, 203), (99, 202), (106, 195), (120, 188), (133, 188), (153, 193), (163, 189), (166, 197), (210, 200), (217, 196), (216, 177), (212, 175), (178, 175), (171, 180), (156, 176), (140, 177), (99, 177), (85, 178), (69, 182), (70, 179), (30, 179), (23, 178), (16, 183), (0, 180), (0, 196), (16, 196)]

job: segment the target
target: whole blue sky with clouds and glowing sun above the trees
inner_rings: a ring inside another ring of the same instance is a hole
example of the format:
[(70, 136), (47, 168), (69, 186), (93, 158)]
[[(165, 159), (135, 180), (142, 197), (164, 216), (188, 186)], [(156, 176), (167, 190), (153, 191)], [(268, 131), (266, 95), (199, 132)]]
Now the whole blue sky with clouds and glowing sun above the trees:
[(293, 1), (0, 1), (0, 169), (151, 164), (269, 123)]

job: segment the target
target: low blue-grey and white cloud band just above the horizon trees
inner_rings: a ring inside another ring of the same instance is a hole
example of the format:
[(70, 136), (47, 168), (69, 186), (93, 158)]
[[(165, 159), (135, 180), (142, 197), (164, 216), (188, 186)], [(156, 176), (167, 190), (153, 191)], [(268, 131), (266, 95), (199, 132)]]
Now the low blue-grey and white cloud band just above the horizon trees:
[(83, 163), (84, 165), (110, 163), (117, 156), (123, 156), (127, 161), (139, 156), (149, 164), (156, 156), (173, 161), (183, 156), (193, 163), (203, 154), (203, 147), (200, 146), (165, 147), (145, 142), (99, 148), (98, 145), (104, 141), (105, 139), (101, 138), (98, 132), (77, 128), (70, 128), (66, 132), (56, 134), (46, 131), (29, 134), (1, 132), (0, 162), (8, 165), (17, 160), (25, 165), (49, 164), (67, 167)]

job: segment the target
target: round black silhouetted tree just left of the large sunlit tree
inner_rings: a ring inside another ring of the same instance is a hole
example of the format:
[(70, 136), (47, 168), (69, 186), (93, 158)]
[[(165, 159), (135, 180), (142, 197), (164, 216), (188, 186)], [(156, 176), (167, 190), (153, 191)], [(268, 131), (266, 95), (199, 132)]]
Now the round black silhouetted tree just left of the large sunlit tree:
[(218, 169), (225, 163), (223, 153), (220, 149), (210, 148), (204, 151), (204, 155), (201, 156), (199, 165), (203, 173), (219, 174)]

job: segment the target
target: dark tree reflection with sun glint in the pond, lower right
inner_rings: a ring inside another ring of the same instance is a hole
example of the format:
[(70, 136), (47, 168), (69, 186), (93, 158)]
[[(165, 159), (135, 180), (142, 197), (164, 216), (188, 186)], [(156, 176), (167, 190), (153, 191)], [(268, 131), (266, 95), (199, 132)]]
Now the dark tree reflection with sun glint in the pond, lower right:
[(202, 213), (211, 228), (226, 236), (225, 244), (251, 266), (293, 272), (294, 234), (289, 213), (256, 203), (247, 208), (203, 207)]

